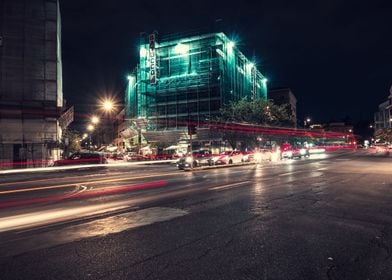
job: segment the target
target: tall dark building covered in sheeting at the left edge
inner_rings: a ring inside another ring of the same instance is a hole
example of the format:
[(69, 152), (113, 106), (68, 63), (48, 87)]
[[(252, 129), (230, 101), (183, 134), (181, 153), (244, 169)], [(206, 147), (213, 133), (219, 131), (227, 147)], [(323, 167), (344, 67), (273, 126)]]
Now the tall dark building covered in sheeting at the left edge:
[(58, 1), (0, 0), (0, 163), (56, 159), (63, 107)]

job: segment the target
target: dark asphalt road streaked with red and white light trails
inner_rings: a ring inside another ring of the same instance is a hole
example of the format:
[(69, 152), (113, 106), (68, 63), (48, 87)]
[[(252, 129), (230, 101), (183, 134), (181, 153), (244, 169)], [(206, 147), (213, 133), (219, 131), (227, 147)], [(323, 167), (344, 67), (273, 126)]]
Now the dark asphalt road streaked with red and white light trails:
[(392, 279), (392, 158), (0, 176), (0, 279)]

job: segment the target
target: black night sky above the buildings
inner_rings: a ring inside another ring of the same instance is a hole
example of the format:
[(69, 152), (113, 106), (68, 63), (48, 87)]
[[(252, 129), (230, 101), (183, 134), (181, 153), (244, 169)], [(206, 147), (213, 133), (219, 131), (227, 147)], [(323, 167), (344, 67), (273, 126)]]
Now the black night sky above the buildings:
[(64, 95), (78, 112), (105, 94), (122, 99), (141, 32), (214, 31), (216, 19), (270, 87), (292, 88), (300, 116), (372, 120), (392, 85), (390, 0), (60, 3)]

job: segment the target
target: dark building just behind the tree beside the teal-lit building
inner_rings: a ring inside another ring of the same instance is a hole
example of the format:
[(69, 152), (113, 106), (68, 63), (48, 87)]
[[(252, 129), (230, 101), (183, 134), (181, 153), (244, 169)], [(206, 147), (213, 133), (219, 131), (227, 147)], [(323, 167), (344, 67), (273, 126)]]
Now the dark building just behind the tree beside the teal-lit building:
[(293, 120), (293, 126), (297, 127), (297, 98), (290, 88), (275, 88), (268, 90), (268, 99), (277, 105), (288, 105), (287, 110)]

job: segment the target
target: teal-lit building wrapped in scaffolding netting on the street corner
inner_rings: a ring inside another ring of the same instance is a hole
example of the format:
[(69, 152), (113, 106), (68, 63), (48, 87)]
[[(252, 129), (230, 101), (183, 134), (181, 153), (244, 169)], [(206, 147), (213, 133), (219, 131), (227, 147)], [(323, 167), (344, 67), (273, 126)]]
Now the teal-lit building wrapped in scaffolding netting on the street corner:
[(151, 34), (129, 76), (126, 118), (148, 120), (147, 130), (199, 126), (230, 101), (267, 98), (266, 83), (223, 33), (161, 40)]

